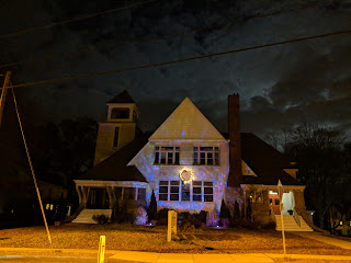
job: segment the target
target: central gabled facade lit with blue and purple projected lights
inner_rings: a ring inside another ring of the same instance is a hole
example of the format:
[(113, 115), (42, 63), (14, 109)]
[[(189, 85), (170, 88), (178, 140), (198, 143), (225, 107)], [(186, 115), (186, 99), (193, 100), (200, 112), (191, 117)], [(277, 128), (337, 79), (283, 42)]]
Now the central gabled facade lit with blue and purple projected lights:
[(219, 209), (228, 178), (228, 141), (186, 98), (131, 160), (158, 208)]

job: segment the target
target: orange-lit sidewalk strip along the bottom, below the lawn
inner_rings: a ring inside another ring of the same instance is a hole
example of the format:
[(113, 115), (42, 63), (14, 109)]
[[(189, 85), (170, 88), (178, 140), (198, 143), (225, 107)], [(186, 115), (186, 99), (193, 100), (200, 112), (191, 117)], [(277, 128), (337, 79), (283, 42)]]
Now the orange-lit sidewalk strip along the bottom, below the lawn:
[[(20, 254), (20, 255), (19, 255)], [(63, 256), (63, 258), (98, 258), (97, 250), (78, 249), (26, 249), (26, 248), (0, 248), (0, 259), (9, 255), (23, 258), (31, 256)], [(67, 256), (68, 255), (68, 256)], [(349, 261), (347, 255), (309, 255), (309, 254), (287, 254), (288, 260), (332, 260)], [(252, 253), (252, 254), (176, 254), (176, 253), (149, 253), (137, 251), (106, 250), (105, 259), (132, 261), (132, 262), (155, 262), (155, 263), (272, 263), (275, 260), (283, 260), (283, 254)]]

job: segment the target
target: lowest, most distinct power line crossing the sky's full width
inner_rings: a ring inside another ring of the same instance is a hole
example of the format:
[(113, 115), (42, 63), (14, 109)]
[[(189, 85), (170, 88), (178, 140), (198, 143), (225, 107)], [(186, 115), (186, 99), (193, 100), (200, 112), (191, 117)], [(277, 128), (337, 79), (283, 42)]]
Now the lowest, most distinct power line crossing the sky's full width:
[[(20, 87), (31, 87), (31, 85), (37, 85), (37, 84), (47, 84), (47, 83), (54, 83), (54, 82), (59, 82), (59, 81), (65, 81), (65, 80), (83, 79), (83, 78), (88, 78), (88, 77), (97, 77), (97, 76), (103, 76), (103, 75), (110, 75), (110, 73), (120, 73), (120, 72), (132, 71), (132, 70), (136, 70), (136, 69), (155, 68), (155, 67), (159, 67), (159, 66), (167, 66), (167, 65), (172, 65), (172, 64), (185, 62), (185, 61), (197, 60), (197, 59), (210, 58), (210, 57), (217, 57), (217, 56), (223, 56), (223, 55), (228, 55), (228, 54), (248, 52), (248, 50), (253, 50), (253, 49), (259, 49), (259, 48), (272, 47), (272, 46), (278, 46), (278, 45), (284, 45), (284, 44), (290, 44), (290, 43), (296, 43), (296, 42), (303, 42), (303, 41), (309, 41), (309, 39), (316, 39), (316, 38), (322, 38), (322, 37), (329, 37), (329, 36), (333, 36), (333, 35), (341, 35), (341, 34), (349, 34), (349, 33), (351, 33), (351, 30), (331, 32), (331, 33), (327, 33), (327, 34), (322, 34), (322, 35), (306, 36), (306, 37), (283, 41), (283, 42), (276, 42), (276, 43), (271, 43), (271, 44), (264, 44), (264, 45), (258, 45), (258, 46), (251, 46), (251, 47), (244, 47), (244, 48), (233, 49), (233, 50), (227, 50), (227, 52), (222, 52), (222, 53), (212, 53), (212, 54), (206, 54), (206, 55), (202, 55), (202, 56), (182, 58), (182, 59), (177, 59), (177, 60), (171, 60), (171, 61), (163, 61), (163, 62), (158, 62), (158, 64), (136, 66), (136, 67), (132, 67), (132, 68), (115, 69), (115, 70), (109, 70), (109, 71), (102, 71), (102, 72), (95, 72), (95, 73), (69, 76), (69, 77), (49, 79), (49, 80), (39, 80), (39, 81), (35, 81), (35, 82), (29, 82), (29, 83), (7, 87), (5, 89), (20, 88)], [(2, 90), (2, 89), (3, 88), (0, 88), (0, 90)]]

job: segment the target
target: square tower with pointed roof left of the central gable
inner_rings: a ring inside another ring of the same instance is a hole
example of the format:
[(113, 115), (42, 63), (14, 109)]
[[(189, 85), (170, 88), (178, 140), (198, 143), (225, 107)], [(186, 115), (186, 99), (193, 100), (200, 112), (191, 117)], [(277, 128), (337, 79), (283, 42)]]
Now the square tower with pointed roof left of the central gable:
[(121, 92), (106, 105), (107, 121), (99, 123), (94, 165), (135, 138), (139, 110), (129, 93), (126, 90)]

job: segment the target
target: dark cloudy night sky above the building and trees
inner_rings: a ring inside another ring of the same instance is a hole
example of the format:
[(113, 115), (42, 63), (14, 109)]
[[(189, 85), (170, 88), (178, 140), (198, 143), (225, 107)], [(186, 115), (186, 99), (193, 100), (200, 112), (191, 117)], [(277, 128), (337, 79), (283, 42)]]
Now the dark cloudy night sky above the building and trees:
[[(0, 32), (5, 35), (138, 2), (143, 1), (1, 0)], [(331, 4), (252, 19), (322, 2)], [(226, 25), (160, 37), (216, 24)], [(0, 37), (0, 65), (52, 57), (0, 71), (12, 70), (12, 80), (19, 84), (350, 28), (350, 0), (158, 0), (20, 36)], [(242, 132), (264, 137), (268, 132), (314, 123), (350, 133), (351, 34), (24, 87), (16, 92), (25, 112), (23, 118), (44, 124), (79, 116), (105, 121), (105, 102), (123, 90), (137, 102), (143, 130), (156, 129), (189, 96), (225, 132), (227, 95), (239, 93)]]

